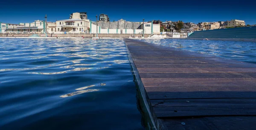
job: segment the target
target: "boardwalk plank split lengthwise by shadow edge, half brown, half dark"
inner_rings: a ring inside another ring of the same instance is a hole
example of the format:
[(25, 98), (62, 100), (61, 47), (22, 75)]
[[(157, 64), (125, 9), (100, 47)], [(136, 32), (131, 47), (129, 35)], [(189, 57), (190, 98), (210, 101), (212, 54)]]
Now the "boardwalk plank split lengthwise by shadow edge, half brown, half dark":
[(255, 86), (146, 87), (150, 100), (198, 98), (256, 98)]

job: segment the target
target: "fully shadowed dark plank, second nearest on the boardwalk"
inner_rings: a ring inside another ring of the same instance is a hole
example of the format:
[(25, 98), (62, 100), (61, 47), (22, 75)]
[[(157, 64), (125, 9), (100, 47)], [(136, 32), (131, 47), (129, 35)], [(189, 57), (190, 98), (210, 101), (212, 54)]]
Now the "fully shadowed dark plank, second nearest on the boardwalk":
[(256, 116), (256, 99), (151, 100), (158, 118), (176, 116)]

